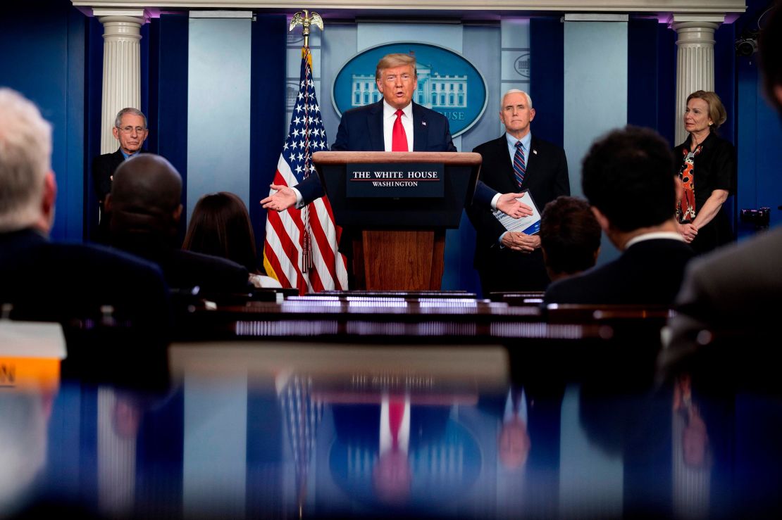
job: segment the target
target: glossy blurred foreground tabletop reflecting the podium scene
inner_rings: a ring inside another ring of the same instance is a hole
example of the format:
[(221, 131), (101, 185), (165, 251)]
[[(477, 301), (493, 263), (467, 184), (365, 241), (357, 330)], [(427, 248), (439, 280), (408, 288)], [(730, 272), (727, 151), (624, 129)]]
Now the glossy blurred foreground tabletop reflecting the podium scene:
[(492, 344), (218, 342), (174, 344), (170, 386), (141, 391), (61, 380), (50, 361), (0, 358), (3, 516), (780, 510), (782, 400), (687, 373), (628, 390), (511, 377), (534, 370)]

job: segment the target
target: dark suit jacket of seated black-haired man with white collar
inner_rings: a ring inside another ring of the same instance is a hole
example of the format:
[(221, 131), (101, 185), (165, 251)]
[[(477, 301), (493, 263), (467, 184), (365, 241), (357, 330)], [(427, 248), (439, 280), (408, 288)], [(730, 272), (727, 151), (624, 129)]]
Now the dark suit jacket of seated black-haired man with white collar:
[(613, 262), (552, 283), (543, 301), (671, 305), (693, 254), (692, 248), (680, 240), (644, 240), (627, 248)]

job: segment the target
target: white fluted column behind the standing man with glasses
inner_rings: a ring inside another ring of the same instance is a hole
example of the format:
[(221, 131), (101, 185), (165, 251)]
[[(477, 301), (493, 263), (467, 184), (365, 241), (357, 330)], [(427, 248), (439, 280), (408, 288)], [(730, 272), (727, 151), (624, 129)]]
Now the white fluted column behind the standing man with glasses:
[(117, 150), (111, 129), (117, 112), (141, 109), (141, 28), (148, 20), (144, 9), (92, 9), (103, 24), (103, 101), (100, 150)]

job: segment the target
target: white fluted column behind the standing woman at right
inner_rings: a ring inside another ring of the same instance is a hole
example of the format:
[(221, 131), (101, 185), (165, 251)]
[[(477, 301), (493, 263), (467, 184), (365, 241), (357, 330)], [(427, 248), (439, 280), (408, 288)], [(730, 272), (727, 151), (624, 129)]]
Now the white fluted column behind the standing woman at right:
[(682, 117), (687, 96), (694, 91), (714, 90), (714, 31), (724, 15), (674, 14), (670, 27), (676, 31), (676, 142), (687, 137)]

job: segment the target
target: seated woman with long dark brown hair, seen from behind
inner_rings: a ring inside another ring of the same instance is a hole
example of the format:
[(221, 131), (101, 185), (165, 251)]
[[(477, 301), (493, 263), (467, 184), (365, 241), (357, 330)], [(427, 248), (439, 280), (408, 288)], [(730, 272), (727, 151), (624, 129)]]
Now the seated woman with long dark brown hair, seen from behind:
[(255, 287), (282, 287), (271, 276), (260, 274), (247, 207), (228, 191), (206, 194), (195, 204), (182, 249), (244, 265)]

